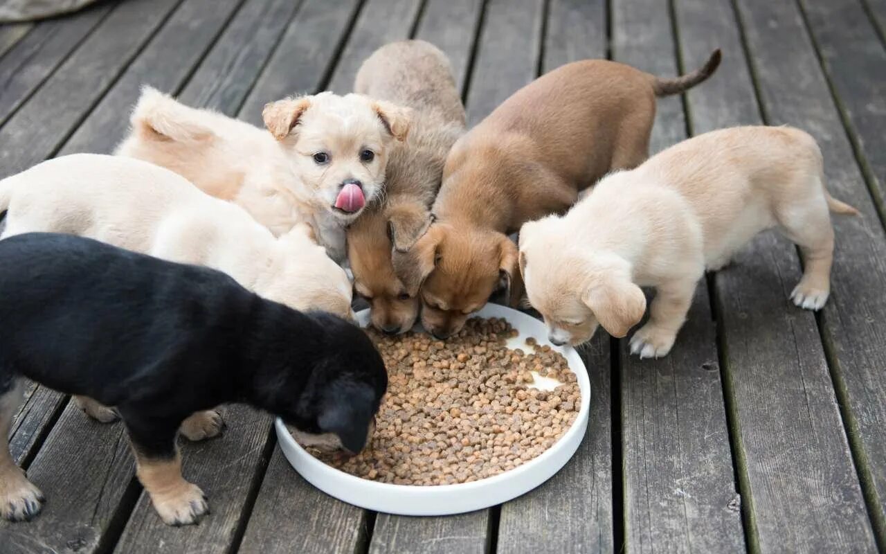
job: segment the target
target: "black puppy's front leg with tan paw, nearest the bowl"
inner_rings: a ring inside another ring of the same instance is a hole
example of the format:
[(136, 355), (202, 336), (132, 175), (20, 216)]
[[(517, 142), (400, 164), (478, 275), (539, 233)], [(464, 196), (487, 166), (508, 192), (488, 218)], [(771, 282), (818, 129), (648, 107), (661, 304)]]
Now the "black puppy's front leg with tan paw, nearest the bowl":
[(206, 495), (184, 480), (182, 458), (175, 447), (181, 419), (172, 421), (120, 407), (136, 455), (136, 475), (167, 525), (190, 525), (209, 513)]

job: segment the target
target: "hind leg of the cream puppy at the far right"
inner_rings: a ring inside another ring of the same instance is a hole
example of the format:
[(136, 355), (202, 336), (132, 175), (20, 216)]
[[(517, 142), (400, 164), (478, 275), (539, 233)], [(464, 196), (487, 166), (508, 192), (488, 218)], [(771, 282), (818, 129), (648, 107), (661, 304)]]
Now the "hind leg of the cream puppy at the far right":
[(790, 293), (800, 308), (821, 309), (830, 293), (830, 269), (834, 261), (834, 228), (823, 198), (802, 199), (776, 215), (781, 231), (800, 246), (803, 277)]

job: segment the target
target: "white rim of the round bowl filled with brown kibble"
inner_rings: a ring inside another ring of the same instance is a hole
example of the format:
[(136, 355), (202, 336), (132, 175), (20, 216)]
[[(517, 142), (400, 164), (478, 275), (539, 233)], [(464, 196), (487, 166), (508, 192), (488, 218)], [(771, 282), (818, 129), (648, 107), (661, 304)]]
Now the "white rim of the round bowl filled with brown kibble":
[[(495, 304), (486, 304), (476, 316), (503, 317), (520, 333), (516, 339), (509, 339), (509, 347), (519, 347), (529, 351), (532, 347), (525, 345), (525, 339), (534, 337), (540, 345), (547, 344), (563, 354), (569, 362), (571, 371), (578, 377), (581, 391), (579, 415), (551, 448), (508, 472), (469, 483), (435, 486), (393, 485), (354, 477), (323, 464), (299, 446), (286, 429), (283, 420), (277, 417), (275, 423), (277, 439), (292, 467), (309, 483), (338, 500), (367, 510), (405, 516), (444, 516), (482, 510), (523, 495), (560, 471), (579, 448), (587, 429), (591, 384), (587, 379), (585, 364), (574, 348), (551, 345), (548, 342), (545, 325), (532, 316)], [(357, 314), (357, 319), (361, 325), (369, 324), (369, 310), (362, 310)]]

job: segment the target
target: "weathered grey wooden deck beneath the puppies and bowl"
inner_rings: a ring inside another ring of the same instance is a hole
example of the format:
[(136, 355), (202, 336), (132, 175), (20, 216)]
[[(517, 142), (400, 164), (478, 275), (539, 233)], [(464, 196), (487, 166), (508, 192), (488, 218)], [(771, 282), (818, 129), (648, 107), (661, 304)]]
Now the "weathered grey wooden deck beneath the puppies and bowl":
[[(12, 451), (43, 514), (0, 523), (0, 552), (862, 552), (886, 548), (886, 0), (126, 0), (0, 27), (0, 176), (109, 152), (143, 83), (260, 123), (266, 102), (345, 92), (377, 46), (447, 52), (470, 123), (540, 73), (610, 58), (717, 74), (659, 103), (653, 150), (742, 123), (789, 123), (824, 151), (839, 218), (820, 315), (788, 298), (802, 261), (764, 234), (708, 278), (672, 354), (600, 332), (579, 453), (542, 487), (451, 518), (363, 511), (311, 487), (267, 415), (227, 408), (184, 444), (209, 495), (166, 527), (134, 478), (122, 425), (37, 387)], [(879, 76), (877, 76), (879, 75)], [(0, 322), (2, 332), (2, 322)]]

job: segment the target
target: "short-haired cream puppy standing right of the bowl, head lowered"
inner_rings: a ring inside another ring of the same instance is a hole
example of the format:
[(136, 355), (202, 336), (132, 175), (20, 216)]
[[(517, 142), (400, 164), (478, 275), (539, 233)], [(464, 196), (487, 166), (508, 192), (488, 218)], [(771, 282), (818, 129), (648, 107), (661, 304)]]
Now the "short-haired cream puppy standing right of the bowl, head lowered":
[(690, 138), (639, 168), (606, 176), (567, 215), (520, 230), (520, 269), (556, 344), (590, 339), (597, 324), (624, 337), (657, 289), (631, 352), (666, 355), (705, 269), (719, 269), (759, 231), (800, 246), (797, 306), (828, 300), (834, 230), (829, 211), (855, 208), (825, 190), (815, 140), (787, 127), (738, 127)]

